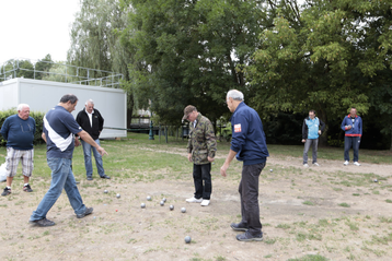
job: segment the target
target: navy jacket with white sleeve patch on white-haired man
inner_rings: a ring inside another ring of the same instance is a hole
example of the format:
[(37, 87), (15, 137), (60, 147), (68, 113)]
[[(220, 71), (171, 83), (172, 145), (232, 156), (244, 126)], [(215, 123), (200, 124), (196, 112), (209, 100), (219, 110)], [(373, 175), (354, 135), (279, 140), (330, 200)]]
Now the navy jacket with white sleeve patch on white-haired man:
[(239, 104), (231, 116), (231, 150), (244, 165), (265, 163), (269, 156), (263, 123), (258, 114), (244, 102)]

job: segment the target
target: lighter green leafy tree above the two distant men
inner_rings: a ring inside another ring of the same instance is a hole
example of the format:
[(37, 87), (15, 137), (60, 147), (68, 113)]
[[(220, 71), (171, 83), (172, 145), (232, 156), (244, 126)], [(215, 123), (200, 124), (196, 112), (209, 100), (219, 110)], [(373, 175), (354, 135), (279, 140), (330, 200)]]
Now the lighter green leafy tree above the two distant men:
[(261, 35), (255, 63), (246, 68), (251, 104), (264, 117), (314, 108), (326, 123), (350, 106), (367, 114), (374, 78), (391, 74), (391, 3), (268, 2), (274, 26)]

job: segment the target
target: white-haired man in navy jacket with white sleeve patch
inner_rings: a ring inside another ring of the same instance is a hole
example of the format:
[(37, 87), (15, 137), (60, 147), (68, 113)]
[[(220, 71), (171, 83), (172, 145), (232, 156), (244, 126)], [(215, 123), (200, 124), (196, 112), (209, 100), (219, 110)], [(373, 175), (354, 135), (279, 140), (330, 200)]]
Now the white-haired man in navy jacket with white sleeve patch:
[(258, 114), (249, 107), (240, 91), (231, 90), (227, 95), (227, 104), (231, 112), (232, 140), (231, 147), (220, 174), (226, 177), (231, 161), (237, 157), (243, 162), (239, 192), (241, 195), (242, 221), (230, 226), (237, 232), (240, 241), (262, 241), (262, 223), (258, 207), (258, 177), (265, 167), (268, 150), (265, 142), (263, 123)]

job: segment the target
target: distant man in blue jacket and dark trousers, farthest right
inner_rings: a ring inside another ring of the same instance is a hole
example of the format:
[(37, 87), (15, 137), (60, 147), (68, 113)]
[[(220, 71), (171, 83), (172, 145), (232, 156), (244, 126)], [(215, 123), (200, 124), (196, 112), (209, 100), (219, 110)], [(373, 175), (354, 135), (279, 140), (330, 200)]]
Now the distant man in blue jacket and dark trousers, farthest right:
[(344, 138), (344, 165), (349, 164), (349, 149), (353, 146), (354, 165), (360, 166), (358, 163), (358, 151), (360, 138), (362, 137), (362, 119), (357, 115), (357, 109), (351, 108), (349, 115), (344, 117), (342, 121), (342, 130), (345, 132)]

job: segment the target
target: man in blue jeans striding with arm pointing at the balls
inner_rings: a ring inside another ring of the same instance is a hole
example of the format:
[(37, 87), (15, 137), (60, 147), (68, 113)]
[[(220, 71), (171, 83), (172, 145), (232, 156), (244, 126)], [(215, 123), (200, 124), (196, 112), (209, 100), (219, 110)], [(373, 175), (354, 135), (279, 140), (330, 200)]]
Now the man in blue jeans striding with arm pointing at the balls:
[(51, 169), (51, 183), (38, 207), (33, 211), (30, 223), (37, 226), (54, 226), (55, 223), (46, 218), (46, 214), (66, 190), (69, 202), (78, 218), (90, 215), (93, 207), (85, 207), (79, 193), (71, 164), (74, 147), (74, 135), (78, 134), (101, 154), (107, 154), (103, 147), (83, 131), (71, 112), (78, 104), (73, 94), (64, 95), (60, 103), (44, 117), (43, 139), (46, 142), (47, 164)]

